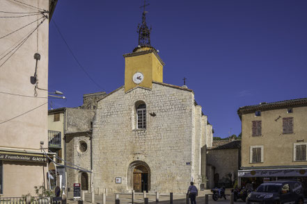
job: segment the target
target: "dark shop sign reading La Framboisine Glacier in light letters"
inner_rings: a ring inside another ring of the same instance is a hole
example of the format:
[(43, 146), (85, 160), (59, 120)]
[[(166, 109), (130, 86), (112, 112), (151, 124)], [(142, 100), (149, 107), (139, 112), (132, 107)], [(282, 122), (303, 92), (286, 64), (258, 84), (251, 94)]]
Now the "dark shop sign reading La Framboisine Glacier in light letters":
[(47, 162), (44, 155), (31, 153), (8, 153), (0, 151), (0, 160), (20, 161), (20, 162)]

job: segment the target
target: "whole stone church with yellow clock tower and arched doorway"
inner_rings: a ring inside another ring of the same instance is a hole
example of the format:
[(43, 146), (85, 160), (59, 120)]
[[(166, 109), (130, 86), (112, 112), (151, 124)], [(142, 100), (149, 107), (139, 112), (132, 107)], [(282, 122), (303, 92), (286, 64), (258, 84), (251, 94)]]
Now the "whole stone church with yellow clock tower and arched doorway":
[(139, 46), (124, 57), (125, 85), (97, 102), (93, 187), (185, 193), (192, 180), (204, 187), (212, 126), (192, 90), (163, 83), (164, 62), (150, 45), (145, 12)]

